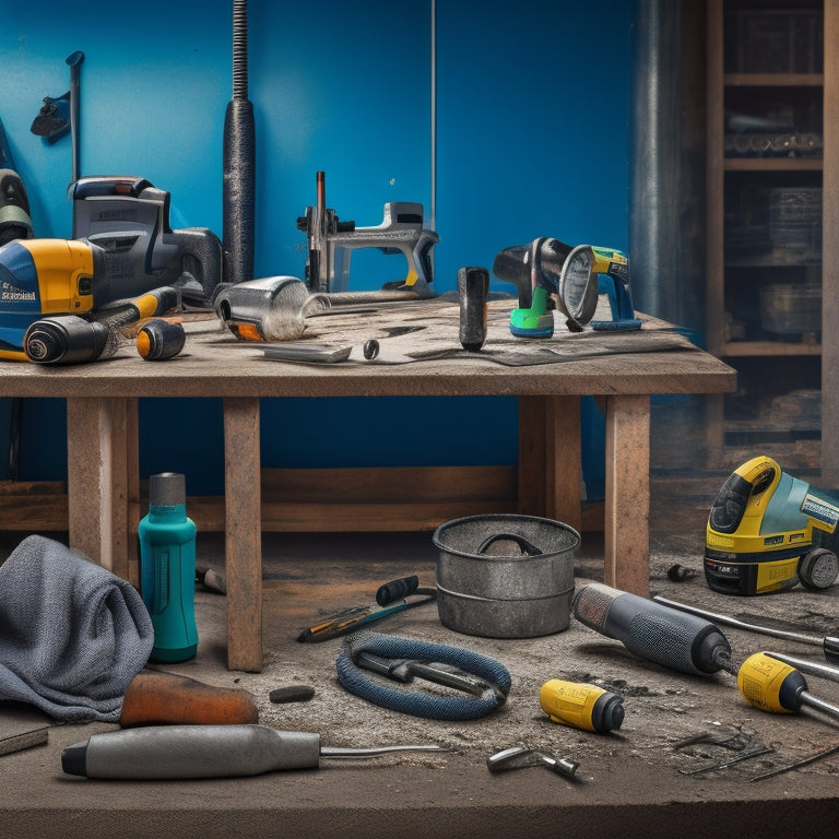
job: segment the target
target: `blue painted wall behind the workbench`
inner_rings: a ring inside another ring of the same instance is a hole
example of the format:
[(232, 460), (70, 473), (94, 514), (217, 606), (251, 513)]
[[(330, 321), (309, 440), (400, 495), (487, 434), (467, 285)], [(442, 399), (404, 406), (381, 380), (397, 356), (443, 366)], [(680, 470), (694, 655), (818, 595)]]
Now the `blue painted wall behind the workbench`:
[[(631, 5), (438, 1), (439, 292), (454, 287), (461, 265), (489, 268), (500, 248), (535, 236), (627, 247)], [(232, 3), (4, 7), (0, 119), (36, 235), (70, 235), (70, 140), (50, 146), (29, 126), (45, 96), (68, 90), (64, 59), (78, 49), (82, 174), (146, 177), (172, 193), (174, 227), (221, 235)], [(256, 274), (303, 276), (295, 222), (314, 203), (319, 169), (341, 218), (377, 224), (385, 202), (399, 200), (428, 213), (430, 3), (264, 0), (250, 2), (248, 16)], [(356, 251), (352, 264), (357, 288), (404, 272), (401, 257), (373, 251)], [(8, 413), (0, 400), (0, 477)], [(22, 478), (64, 476), (63, 423), (60, 400), (26, 400)], [(271, 400), (263, 462), (513, 463), (516, 424), (512, 399)], [(141, 427), (143, 474), (182, 471), (190, 494), (223, 491), (217, 402), (146, 400)], [(596, 484), (596, 454), (588, 471)]]

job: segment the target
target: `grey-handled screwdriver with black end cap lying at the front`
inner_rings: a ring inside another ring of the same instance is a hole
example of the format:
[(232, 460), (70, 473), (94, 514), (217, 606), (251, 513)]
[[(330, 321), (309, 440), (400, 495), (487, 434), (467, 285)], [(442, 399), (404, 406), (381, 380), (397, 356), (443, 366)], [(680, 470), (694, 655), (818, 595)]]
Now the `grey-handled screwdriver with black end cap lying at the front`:
[(280, 769), (317, 769), (321, 758), (364, 758), (391, 752), (446, 752), (436, 745), (335, 748), (320, 735), (268, 725), (149, 725), (93, 734), (68, 746), (68, 775), (129, 780), (236, 778)]

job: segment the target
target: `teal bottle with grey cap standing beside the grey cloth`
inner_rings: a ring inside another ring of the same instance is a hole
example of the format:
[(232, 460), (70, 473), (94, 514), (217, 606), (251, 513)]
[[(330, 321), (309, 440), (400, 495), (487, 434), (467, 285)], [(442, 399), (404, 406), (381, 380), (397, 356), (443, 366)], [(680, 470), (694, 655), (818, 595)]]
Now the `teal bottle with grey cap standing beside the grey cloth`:
[(149, 513), (138, 527), (140, 591), (154, 626), (152, 661), (187, 661), (198, 650), (196, 524), (187, 518), (184, 475), (149, 478)]

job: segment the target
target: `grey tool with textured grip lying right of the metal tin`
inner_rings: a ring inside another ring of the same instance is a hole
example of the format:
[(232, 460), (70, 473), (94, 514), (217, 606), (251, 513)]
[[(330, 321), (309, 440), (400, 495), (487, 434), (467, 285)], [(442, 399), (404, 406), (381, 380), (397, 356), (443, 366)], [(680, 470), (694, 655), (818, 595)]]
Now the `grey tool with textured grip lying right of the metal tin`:
[(731, 646), (713, 624), (637, 594), (593, 582), (577, 593), (574, 615), (657, 664), (694, 674), (731, 669)]

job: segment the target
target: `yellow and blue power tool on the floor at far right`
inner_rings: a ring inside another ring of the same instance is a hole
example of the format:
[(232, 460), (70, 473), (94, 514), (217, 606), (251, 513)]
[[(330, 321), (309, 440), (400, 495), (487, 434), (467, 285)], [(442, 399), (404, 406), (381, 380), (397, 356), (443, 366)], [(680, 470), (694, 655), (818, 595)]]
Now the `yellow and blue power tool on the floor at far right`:
[(766, 456), (738, 466), (711, 505), (705, 576), (722, 594), (766, 594), (839, 576), (832, 545), (839, 501), (781, 471)]

